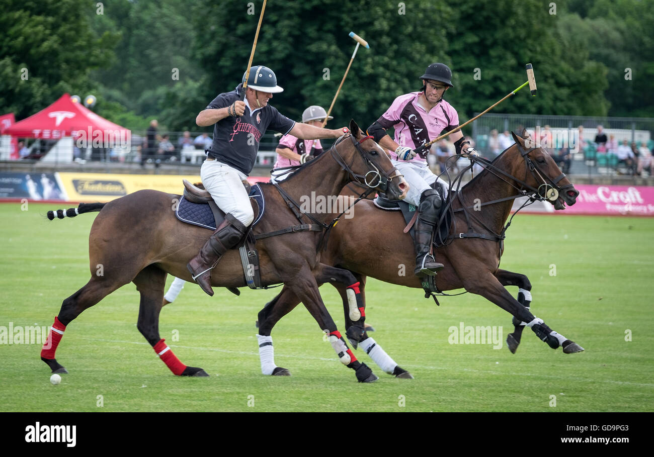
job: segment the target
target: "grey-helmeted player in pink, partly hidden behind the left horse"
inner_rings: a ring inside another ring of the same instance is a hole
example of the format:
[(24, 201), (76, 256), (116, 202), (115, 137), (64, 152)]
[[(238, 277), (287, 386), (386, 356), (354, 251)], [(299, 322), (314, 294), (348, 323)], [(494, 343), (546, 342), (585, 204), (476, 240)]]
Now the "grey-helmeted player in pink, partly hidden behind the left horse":
[[(322, 127), (322, 122), (326, 117), (327, 112), (324, 108), (318, 105), (312, 105), (302, 112), (302, 123)], [(328, 120), (330, 119), (334, 119), (334, 117), (329, 116)], [(273, 165), (270, 180), (272, 182), (279, 182), (288, 178), (294, 170), (277, 170), (278, 168), (301, 165), (319, 156), (322, 154), (322, 144), (320, 144), (320, 140), (303, 140), (290, 133), (286, 133), (286, 135), (279, 139), (279, 144), (277, 144), (275, 152), (277, 152), (277, 161)]]

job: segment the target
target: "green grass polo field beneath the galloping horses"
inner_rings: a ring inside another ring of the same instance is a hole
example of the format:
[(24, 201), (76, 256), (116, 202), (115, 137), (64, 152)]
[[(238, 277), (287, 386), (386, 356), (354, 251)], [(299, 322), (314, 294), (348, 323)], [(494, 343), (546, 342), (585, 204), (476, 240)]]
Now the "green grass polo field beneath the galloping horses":
[[(61, 301), (90, 276), (95, 214), (50, 222), (44, 214), (55, 207), (0, 205), (0, 326), (52, 325)], [(414, 380), (386, 375), (357, 350), (380, 377), (358, 384), (303, 307), (272, 334), (276, 362), (292, 376), (266, 377), (254, 321), (277, 290), (241, 289), (235, 297), (216, 289), (210, 298), (186, 284), (163, 309), (160, 331), (182, 362), (211, 375), (187, 379), (175, 377), (137, 330), (139, 294), (128, 284), (67, 327), (57, 358), (70, 374), (58, 386), (39, 359), (40, 344), (0, 344), (0, 411), (654, 409), (654, 219), (519, 215), (502, 267), (529, 277), (532, 312), (585, 352), (551, 350), (530, 330), (515, 355), (504, 341), (499, 350), (451, 345), (448, 329), (460, 322), (500, 326), (504, 340), (511, 316), (479, 296), (443, 297), (437, 307), (421, 290), (370, 280), (371, 335)], [(328, 285), (321, 292), (344, 331), (339, 296)]]

